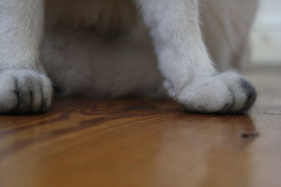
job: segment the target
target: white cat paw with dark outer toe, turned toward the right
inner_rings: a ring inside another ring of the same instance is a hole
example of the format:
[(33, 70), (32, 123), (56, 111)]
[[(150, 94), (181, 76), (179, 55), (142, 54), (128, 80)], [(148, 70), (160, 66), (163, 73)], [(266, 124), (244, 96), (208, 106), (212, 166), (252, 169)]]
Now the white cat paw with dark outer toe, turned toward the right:
[(176, 101), (197, 113), (245, 113), (256, 101), (256, 90), (233, 71), (197, 78), (177, 94)]

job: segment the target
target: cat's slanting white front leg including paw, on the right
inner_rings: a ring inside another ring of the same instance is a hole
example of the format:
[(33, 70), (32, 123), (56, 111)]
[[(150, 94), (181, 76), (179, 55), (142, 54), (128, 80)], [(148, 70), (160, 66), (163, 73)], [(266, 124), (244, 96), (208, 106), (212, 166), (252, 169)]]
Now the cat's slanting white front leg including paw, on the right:
[(213, 67), (200, 30), (197, 0), (135, 0), (150, 28), (165, 78), (177, 102), (199, 113), (244, 113), (256, 100), (254, 86), (233, 71)]

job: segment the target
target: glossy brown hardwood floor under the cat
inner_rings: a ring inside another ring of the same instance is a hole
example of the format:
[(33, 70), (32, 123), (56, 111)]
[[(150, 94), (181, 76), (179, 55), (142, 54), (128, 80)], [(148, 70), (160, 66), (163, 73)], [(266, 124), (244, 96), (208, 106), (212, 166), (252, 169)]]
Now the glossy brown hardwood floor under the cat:
[(281, 69), (247, 74), (247, 116), (147, 99), (55, 99), (0, 116), (0, 186), (281, 186)]

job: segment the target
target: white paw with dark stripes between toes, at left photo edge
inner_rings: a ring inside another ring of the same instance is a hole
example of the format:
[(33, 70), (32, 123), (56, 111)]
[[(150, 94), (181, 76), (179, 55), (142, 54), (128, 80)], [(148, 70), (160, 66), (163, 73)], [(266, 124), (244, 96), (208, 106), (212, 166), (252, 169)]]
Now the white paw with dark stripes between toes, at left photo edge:
[(0, 113), (43, 113), (51, 105), (51, 81), (28, 69), (0, 71)]

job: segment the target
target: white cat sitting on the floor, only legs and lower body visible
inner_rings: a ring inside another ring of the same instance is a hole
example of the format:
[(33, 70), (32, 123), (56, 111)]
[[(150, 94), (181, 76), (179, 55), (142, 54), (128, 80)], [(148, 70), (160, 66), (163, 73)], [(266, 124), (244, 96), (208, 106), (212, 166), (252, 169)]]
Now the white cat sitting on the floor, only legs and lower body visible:
[[(234, 71), (257, 0), (0, 0), (0, 113), (63, 95), (172, 97), (188, 111), (242, 113), (254, 87)], [(204, 43), (205, 41), (205, 43)], [(48, 75), (48, 76), (46, 76)]]

